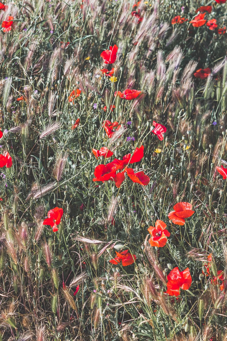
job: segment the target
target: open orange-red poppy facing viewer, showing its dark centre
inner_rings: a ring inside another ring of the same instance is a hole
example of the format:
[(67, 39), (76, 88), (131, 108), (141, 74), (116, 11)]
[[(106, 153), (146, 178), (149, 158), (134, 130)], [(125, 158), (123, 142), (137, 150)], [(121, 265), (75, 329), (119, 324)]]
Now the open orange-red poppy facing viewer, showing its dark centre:
[(166, 224), (162, 220), (156, 220), (155, 227), (150, 226), (147, 231), (150, 233), (151, 238), (149, 243), (151, 246), (157, 246), (162, 248), (167, 242), (167, 238), (170, 233), (166, 230)]

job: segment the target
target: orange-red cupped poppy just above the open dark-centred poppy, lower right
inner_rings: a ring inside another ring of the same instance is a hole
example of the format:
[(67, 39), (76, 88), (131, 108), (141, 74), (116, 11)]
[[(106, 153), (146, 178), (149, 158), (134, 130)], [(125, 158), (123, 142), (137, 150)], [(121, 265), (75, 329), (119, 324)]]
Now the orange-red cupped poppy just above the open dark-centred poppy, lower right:
[(187, 202), (177, 203), (173, 207), (174, 211), (169, 212), (168, 218), (172, 220), (175, 225), (184, 225), (185, 218), (192, 216), (195, 211), (192, 210), (192, 205)]

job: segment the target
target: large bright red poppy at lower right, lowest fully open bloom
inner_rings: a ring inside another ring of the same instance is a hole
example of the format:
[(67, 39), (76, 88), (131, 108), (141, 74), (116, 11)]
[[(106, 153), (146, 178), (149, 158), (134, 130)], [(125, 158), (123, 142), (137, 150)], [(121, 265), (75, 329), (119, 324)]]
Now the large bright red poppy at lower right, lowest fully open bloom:
[(166, 293), (171, 296), (179, 296), (180, 288), (188, 290), (192, 284), (192, 277), (189, 268), (180, 271), (178, 267), (173, 268), (167, 275)]

